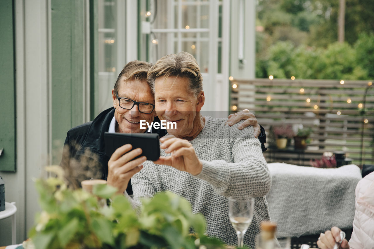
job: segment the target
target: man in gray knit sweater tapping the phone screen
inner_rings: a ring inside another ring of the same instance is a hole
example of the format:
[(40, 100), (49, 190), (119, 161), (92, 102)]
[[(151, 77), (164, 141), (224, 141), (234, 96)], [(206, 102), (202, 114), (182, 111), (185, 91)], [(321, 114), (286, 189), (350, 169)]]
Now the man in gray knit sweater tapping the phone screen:
[(194, 213), (205, 216), (209, 236), (235, 245), (228, 198), (255, 197), (254, 218), (244, 239), (245, 245), (255, 248), (260, 222), (270, 219), (265, 194), (271, 178), (253, 127), (239, 130), (242, 122), (226, 126), (227, 119), (200, 114), (205, 101), (202, 76), (189, 53), (159, 59), (147, 80), (157, 116), (176, 122), (177, 127), (160, 139), (160, 159), (146, 161), (133, 176), (134, 200), (165, 190), (179, 194), (191, 203)]

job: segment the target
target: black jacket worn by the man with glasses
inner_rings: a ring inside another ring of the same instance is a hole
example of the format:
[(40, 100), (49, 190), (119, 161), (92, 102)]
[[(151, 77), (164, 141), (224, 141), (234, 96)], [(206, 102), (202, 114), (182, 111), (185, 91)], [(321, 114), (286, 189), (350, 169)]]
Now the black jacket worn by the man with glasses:
[[(80, 187), (80, 182), (83, 180), (107, 179), (109, 157), (105, 155), (104, 132), (109, 129), (114, 110), (111, 107), (100, 113), (93, 121), (68, 131), (60, 165), (65, 169), (67, 180), (72, 187)], [(154, 122), (160, 122), (159, 118), (155, 117)], [(162, 137), (166, 130), (152, 129), (152, 132)], [(265, 151), (266, 135), (262, 126), (258, 139)], [(131, 182), (126, 191), (132, 194)]]

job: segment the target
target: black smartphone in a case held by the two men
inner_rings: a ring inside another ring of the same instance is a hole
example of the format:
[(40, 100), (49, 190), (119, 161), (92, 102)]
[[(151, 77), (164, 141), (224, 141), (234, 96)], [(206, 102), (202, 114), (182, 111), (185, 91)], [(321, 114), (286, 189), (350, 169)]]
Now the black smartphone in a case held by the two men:
[[(117, 148), (131, 144), (132, 150), (142, 149), (142, 154), (147, 160), (156, 161), (160, 157), (160, 138), (157, 133), (104, 133), (105, 154), (111, 157)], [(136, 158), (138, 158), (136, 157)]]

